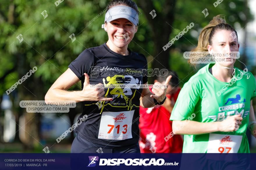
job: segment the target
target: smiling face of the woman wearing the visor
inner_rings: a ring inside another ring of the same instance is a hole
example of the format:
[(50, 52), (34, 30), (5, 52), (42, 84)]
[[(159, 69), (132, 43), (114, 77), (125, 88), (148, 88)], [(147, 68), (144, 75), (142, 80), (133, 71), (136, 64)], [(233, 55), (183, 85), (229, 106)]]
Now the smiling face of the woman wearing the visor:
[[(105, 23), (104, 29), (107, 30), (109, 36), (108, 44), (111, 46), (111, 48), (114, 48), (111, 49), (113, 51), (115, 51), (115, 48), (127, 49), (128, 44), (131, 42), (131, 39), (133, 39), (135, 32), (137, 32), (137, 26), (125, 18), (119, 18)], [(124, 34), (126, 33), (128, 33), (129, 38), (125, 39)]]

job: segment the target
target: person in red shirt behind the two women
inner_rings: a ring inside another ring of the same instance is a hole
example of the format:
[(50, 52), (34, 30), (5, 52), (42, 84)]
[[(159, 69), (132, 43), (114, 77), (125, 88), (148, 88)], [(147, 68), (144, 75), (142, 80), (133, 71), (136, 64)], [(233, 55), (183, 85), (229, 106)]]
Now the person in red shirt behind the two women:
[[(168, 75), (157, 76), (154, 82), (164, 82), (172, 75), (163, 105), (151, 108), (140, 107), (140, 140), (141, 153), (181, 153), (183, 140), (180, 135), (172, 132), (170, 114), (181, 90), (176, 72), (168, 70)], [(150, 89), (151, 91), (151, 89)]]

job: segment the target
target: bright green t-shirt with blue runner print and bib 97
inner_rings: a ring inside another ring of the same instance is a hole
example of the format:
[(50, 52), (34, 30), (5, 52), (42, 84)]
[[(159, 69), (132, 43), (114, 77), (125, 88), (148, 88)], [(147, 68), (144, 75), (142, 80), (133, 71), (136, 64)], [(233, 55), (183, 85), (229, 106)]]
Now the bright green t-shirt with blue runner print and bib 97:
[(249, 153), (246, 129), (250, 100), (256, 96), (255, 78), (251, 72), (244, 73), (235, 67), (235, 77), (239, 80), (232, 78), (229, 83), (222, 82), (209, 72), (213, 65), (209, 63), (201, 68), (184, 84), (170, 120), (192, 117), (198, 122), (214, 122), (241, 114), (242, 124), (234, 132), (184, 135), (183, 153)]

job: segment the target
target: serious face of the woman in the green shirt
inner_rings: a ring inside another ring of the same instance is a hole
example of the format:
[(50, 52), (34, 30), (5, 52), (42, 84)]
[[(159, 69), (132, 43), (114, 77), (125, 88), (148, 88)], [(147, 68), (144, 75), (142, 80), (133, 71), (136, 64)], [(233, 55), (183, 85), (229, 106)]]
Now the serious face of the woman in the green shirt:
[[(232, 37), (231, 30), (217, 30), (214, 36), (211, 39), (211, 45), (208, 45), (208, 52), (213, 54), (216, 59), (216, 64), (219, 64), (223, 67), (233, 67), (236, 59), (232, 59), (230, 56), (231, 52), (238, 52), (239, 43), (237, 41), (237, 36)], [(227, 54), (227, 56), (223, 56)], [(233, 62), (230, 62), (232, 61)]]

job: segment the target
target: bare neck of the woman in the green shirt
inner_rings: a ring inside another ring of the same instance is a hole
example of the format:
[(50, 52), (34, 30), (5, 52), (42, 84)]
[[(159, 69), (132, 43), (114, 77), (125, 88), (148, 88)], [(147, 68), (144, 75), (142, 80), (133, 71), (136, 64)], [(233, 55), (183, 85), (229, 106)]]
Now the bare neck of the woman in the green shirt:
[(229, 82), (233, 77), (234, 65), (231, 67), (223, 67), (220, 64), (216, 63), (212, 66), (211, 73), (219, 81)]

